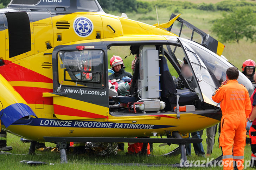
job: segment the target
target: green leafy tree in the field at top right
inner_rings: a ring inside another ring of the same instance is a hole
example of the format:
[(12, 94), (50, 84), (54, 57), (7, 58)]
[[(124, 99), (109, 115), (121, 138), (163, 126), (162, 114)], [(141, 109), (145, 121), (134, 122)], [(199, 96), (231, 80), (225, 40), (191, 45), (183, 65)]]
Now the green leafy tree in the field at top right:
[(256, 40), (256, 17), (251, 8), (237, 8), (233, 12), (223, 13), (223, 18), (213, 21), (212, 32), (222, 42), (236, 41), (244, 37)]

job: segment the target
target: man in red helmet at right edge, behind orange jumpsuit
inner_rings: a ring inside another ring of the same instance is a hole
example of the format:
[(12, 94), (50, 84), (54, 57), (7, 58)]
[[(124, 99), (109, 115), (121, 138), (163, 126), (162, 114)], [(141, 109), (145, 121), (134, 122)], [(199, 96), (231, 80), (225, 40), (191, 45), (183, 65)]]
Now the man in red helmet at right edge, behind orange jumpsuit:
[(248, 79), (252, 82), (252, 85), (256, 87), (256, 83), (253, 79), (253, 75), (255, 73), (255, 62), (251, 59), (245, 60), (242, 66), (243, 74), (248, 77)]

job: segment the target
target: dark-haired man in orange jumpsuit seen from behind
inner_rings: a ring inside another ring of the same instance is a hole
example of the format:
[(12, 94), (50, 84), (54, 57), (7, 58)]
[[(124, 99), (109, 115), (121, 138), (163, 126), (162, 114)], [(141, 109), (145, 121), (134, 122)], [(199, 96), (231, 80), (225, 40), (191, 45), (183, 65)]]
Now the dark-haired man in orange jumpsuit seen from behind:
[(245, 127), (251, 113), (251, 101), (247, 89), (238, 84), (238, 76), (236, 67), (228, 68), (226, 81), (212, 96), (213, 101), (220, 102), (222, 109), (219, 146), (222, 147), (225, 170), (233, 170), (233, 160), (239, 170), (244, 168)]

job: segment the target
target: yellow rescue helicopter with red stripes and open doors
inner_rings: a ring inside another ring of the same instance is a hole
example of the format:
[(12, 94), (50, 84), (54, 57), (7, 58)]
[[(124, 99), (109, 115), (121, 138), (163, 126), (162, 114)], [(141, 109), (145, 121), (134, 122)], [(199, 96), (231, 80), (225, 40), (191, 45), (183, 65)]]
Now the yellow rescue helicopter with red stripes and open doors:
[[(148, 25), (96, 0), (12, 0), (0, 10), (0, 41), (1, 129), (20, 137), (187, 138), (222, 116), (211, 96), (232, 67), (224, 45), (179, 15)], [(109, 50), (120, 46), (137, 59), (127, 96), (108, 80)], [(238, 82), (252, 93), (241, 72)]]

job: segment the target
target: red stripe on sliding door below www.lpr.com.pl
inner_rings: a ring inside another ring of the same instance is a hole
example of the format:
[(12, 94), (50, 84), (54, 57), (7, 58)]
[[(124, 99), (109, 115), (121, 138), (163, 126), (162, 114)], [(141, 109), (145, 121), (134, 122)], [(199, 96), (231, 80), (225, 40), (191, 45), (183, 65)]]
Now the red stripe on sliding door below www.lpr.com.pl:
[(98, 115), (95, 113), (90, 113), (88, 111), (60, 106), (58, 104), (53, 104), (53, 106), (54, 106), (54, 113), (56, 115), (78, 116), (78, 117), (89, 117), (89, 118), (106, 118), (107, 117), (107, 116)]

